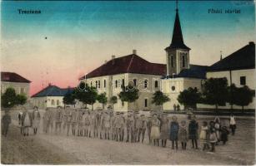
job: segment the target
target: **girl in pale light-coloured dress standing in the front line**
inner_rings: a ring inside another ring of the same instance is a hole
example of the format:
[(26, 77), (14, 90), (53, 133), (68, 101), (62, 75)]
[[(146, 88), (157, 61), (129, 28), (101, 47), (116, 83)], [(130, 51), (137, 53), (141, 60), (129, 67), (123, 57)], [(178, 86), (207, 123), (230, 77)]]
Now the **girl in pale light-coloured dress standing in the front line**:
[(152, 127), (151, 127), (151, 135), (150, 138), (153, 139), (153, 145), (156, 143), (159, 146), (159, 137), (160, 137), (160, 120), (158, 120), (158, 115), (153, 114)]

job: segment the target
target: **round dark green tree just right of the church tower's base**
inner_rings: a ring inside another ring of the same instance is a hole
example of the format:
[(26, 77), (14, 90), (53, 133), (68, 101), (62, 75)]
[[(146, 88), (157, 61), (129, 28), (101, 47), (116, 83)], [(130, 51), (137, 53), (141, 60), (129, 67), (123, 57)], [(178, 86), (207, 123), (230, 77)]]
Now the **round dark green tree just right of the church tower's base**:
[(197, 104), (201, 100), (201, 93), (198, 92), (197, 88), (189, 87), (188, 90), (183, 90), (178, 95), (178, 102), (187, 108), (197, 108)]

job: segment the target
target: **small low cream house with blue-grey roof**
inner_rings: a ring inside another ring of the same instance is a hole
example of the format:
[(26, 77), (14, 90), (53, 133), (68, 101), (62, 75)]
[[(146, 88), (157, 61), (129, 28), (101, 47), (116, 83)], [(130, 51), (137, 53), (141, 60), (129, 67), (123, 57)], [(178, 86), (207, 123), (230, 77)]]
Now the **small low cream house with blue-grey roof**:
[(32, 104), (38, 106), (39, 109), (63, 107), (64, 95), (72, 92), (73, 88), (59, 88), (56, 85), (49, 84), (46, 88), (31, 96)]

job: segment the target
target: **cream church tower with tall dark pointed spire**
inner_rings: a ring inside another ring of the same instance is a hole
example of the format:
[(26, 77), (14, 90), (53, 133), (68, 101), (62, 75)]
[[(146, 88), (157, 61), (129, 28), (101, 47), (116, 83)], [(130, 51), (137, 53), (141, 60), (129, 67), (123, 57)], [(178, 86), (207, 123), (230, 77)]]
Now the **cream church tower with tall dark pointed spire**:
[(183, 42), (183, 33), (178, 17), (178, 1), (176, 2), (176, 16), (173, 27), (173, 38), (170, 46), (165, 48), (167, 61), (167, 76), (178, 75), (183, 69), (189, 68), (189, 50)]

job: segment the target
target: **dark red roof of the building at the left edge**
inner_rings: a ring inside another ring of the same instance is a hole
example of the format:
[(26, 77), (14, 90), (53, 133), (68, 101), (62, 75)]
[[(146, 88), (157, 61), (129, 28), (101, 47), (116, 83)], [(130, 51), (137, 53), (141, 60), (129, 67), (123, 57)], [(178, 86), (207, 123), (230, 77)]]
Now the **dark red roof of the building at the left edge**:
[(24, 83), (30, 83), (31, 81), (28, 81), (23, 76), (18, 75), (15, 72), (1, 72), (1, 81), (8, 81), (8, 82), (24, 82)]

